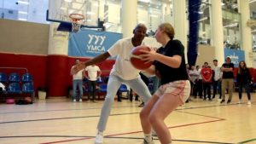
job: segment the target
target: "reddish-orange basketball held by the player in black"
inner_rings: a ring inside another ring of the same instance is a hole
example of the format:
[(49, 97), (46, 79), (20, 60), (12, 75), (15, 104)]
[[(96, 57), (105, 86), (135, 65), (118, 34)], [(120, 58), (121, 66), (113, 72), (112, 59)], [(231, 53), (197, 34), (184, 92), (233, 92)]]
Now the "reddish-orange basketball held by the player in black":
[(145, 70), (152, 65), (152, 62), (145, 63), (146, 61), (142, 60), (141, 57), (138, 56), (138, 55), (143, 55), (143, 52), (140, 51), (141, 49), (150, 51), (150, 48), (148, 46), (145, 46), (145, 45), (137, 46), (131, 50), (130, 60), (131, 60), (132, 66), (134, 66), (139, 70)]

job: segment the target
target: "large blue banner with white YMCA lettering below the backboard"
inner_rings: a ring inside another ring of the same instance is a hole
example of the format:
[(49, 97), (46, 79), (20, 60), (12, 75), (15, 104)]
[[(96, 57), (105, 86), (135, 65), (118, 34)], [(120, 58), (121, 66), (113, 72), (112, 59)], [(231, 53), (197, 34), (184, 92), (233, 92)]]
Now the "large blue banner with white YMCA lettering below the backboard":
[(95, 57), (108, 51), (120, 38), (122, 34), (114, 32), (81, 30), (78, 33), (70, 33), (68, 55)]

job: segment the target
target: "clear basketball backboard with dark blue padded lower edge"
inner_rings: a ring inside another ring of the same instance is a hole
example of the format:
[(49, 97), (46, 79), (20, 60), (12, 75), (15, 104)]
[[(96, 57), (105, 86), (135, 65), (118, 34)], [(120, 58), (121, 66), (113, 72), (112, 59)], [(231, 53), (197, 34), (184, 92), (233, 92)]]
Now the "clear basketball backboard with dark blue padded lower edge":
[(83, 14), (81, 27), (101, 28), (98, 0), (49, 0), (47, 20), (60, 22), (58, 31), (71, 32), (70, 14)]

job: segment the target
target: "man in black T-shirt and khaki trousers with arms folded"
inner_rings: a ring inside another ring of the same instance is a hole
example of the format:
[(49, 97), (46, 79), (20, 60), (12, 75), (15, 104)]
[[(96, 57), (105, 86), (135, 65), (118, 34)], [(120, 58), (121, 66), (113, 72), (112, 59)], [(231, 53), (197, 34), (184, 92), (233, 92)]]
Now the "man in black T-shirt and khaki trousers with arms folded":
[(222, 84), (221, 84), (221, 93), (223, 95), (222, 101), (220, 103), (224, 103), (225, 101), (225, 90), (229, 89), (229, 100), (227, 103), (230, 103), (233, 95), (233, 84), (234, 84), (234, 64), (231, 62), (230, 57), (226, 58), (226, 63), (224, 63), (221, 67), (222, 75)]

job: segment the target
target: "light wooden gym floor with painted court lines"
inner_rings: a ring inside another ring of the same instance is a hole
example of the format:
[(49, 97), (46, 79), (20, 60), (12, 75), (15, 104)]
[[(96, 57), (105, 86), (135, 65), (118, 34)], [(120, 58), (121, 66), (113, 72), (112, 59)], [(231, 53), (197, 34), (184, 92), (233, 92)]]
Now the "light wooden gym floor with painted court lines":
[[(217, 95), (218, 96), (218, 95)], [(256, 93), (252, 105), (234, 93), (231, 104), (193, 99), (166, 118), (174, 144), (256, 143)], [(47, 99), (32, 105), (0, 104), (1, 144), (93, 144), (102, 102)], [(141, 144), (139, 101), (114, 101), (104, 144)], [(157, 137), (155, 144), (160, 144)]]

